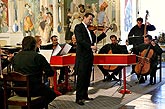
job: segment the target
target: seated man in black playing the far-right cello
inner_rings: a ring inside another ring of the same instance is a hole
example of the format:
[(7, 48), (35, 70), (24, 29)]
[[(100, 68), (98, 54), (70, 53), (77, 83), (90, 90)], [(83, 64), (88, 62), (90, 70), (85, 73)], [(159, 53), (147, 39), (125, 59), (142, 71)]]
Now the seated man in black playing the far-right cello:
[[(144, 36), (144, 43), (134, 47), (132, 49), (132, 52), (136, 55), (139, 55), (140, 53), (142, 53), (144, 50), (146, 50), (148, 48), (150, 50), (153, 50), (153, 54), (152, 54), (151, 58), (149, 59), (150, 85), (153, 85), (153, 84), (155, 84), (153, 82), (153, 77), (156, 75), (157, 64), (158, 64), (158, 55), (162, 54), (162, 52), (163, 52), (162, 49), (160, 48), (160, 46), (157, 43), (154, 42), (151, 35), (146, 35), (146, 36)], [(144, 59), (144, 57), (139, 57), (139, 58)], [(137, 78), (139, 79), (139, 83), (145, 83), (145, 79), (142, 75), (137, 74)]]

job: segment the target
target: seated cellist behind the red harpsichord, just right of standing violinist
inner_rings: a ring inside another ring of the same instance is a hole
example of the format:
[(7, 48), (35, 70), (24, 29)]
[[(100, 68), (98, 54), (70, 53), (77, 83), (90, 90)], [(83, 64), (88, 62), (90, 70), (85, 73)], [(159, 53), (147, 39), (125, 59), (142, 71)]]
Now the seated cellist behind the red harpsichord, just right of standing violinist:
[[(112, 54), (112, 53), (113, 54), (122, 54), (122, 47), (118, 44), (117, 37), (115, 35), (111, 35), (110, 40), (112, 43), (104, 45), (98, 53), (99, 54)], [(98, 65), (98, 67), (101, 70), (101, 72), (103, 73), (103, 75), (105, 76), (103, 82), (111, 81), (112, 79), (115, 81), (118, 81), (119, 79), (117, 79), (115, 77), (115, 75), (118, 75), (123, 68), (122, 66), (117, 66), (115, 69), (112, 68), (113, 69), (112, 70), (112, 69), (110, 69), (110, 67), (113, 67), (113, 66)], [(110, 74), (109, 72), (112, 72), (112, 74)]]

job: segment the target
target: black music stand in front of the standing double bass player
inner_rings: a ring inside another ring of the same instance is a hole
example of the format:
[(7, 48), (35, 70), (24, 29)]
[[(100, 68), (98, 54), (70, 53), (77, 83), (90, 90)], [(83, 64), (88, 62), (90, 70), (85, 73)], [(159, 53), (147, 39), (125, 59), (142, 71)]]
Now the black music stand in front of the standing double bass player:
[(129, 36), (128, 37), (129, 45), (139, 45), (144, 42), (143, 36)]

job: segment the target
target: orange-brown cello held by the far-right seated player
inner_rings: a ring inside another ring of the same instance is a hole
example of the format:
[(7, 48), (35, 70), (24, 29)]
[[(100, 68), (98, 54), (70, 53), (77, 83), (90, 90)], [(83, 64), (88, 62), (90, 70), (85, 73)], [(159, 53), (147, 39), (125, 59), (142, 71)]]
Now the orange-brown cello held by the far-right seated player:
[(140, 56), (138, 56), (138, 63), (135, 66), (135, 72), (138, 75), (148, 75), (150, 73), (150, 58), (154, 54), (154, 51), (153, 49), (150, 49), (150, 46), (143, 50), (140, 53)]

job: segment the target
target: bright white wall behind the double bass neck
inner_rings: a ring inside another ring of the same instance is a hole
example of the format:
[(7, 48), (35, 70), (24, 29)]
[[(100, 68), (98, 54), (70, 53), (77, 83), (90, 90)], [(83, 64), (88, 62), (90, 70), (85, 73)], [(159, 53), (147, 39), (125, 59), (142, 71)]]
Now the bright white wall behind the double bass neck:
[(141, 0), (140, 16), (145, 17), (146, 10), (149, 11), (148, 21), (155, 25), (156, 30), (149, 32), (152, 36), (159, 35), (159, 32), (165, 32), (165, 0)]

